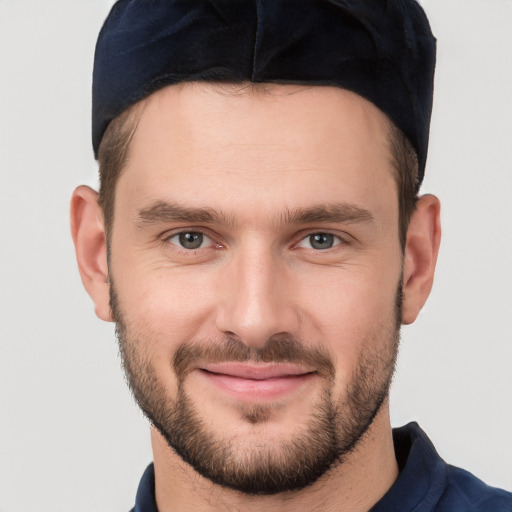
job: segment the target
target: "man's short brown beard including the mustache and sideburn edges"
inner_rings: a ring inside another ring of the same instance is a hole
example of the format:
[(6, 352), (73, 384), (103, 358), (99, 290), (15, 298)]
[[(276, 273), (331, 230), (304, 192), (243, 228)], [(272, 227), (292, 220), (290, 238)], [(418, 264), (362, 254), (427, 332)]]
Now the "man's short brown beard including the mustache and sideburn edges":
[[(400, 280), (401, 283), (401, 280)], [(271, 337), (262, 348), (244, 345), (236, 338), (182, 343), (172, 367), (177, 391), (171, 396), (158, 379), (150, 360), (149, 339), (134, 335), (125, 321), (114, 284), (110, 304), (128, 385), (139, 407), (169, 447), (197, 473), (211, 482), (249, 495), (273, 495), (299, 490), (314, 483), (345, 461), (362, 441), (389, 394), (400, 338), (402, 292), (395, 311), (378, 335), (363, 340), (356, 367), (345, 395), (334, 396), (335, 363), (323, 347), (312, 347), (289, 335)], [(257, 433), (237, 435), (224, 425), (216, 432), (185, 390), (189, 370), (198, 361), (297, 363), (314, 367), (322, 389), (297, 427), (276, 442), (265, 435), (275, 412), (273, 404), (240, 404), (242, 418)]]

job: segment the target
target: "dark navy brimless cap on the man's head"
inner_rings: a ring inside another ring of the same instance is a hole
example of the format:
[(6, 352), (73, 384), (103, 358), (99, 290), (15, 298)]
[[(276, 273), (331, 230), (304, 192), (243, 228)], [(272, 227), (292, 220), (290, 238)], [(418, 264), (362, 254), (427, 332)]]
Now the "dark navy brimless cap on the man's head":
[(108, 124), (185, 81), (334, 85), (374, 103), (427, 158), (436, 40), (415, 0), (119, 0), (98, 37), (94, 154)]

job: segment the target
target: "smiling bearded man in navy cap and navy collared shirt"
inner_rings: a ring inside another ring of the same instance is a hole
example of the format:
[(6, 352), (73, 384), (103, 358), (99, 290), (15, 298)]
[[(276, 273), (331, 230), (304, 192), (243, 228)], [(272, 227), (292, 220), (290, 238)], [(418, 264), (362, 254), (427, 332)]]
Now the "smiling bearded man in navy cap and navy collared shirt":
[(434, 60), (413, 0), (113, 7), (72, 232), (153, 425), (134, 510), (510, 510), (390, 425), (440, 242)]

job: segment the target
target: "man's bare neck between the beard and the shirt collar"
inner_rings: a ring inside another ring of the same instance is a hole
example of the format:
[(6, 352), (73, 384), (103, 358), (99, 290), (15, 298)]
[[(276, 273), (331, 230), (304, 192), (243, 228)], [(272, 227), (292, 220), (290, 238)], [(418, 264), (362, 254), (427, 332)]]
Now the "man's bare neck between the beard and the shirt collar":
[(154, 428), (151, 440), (160, 512), (363, 512), (386, 494), (398, 476), (387, 400), (343, 464), (305, 489), (273, 496), (248, 496), (213, 484), (184, 463)]

